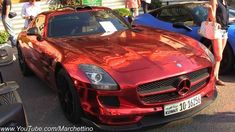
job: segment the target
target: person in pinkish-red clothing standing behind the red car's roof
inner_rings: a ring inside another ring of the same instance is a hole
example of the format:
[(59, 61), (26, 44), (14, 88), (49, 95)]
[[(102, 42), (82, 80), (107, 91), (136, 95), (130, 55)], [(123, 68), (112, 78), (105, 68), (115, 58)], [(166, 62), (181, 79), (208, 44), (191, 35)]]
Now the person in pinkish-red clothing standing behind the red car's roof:
[(131, 11), (131, 15), (136, 17), (139, 15), (140, 0), (126, 0), (125, 6)]

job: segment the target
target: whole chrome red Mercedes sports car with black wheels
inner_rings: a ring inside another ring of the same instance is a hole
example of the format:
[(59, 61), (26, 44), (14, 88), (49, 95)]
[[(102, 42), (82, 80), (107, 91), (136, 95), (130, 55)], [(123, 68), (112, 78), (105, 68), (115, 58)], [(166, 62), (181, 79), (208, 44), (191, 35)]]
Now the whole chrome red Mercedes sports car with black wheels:
[(19, 34), (17, 49), (23, 75), (54, 88), (73, 123), (137, 129), (191, 116), (217, 96), (204, 45), (132, 27), (105, 7), (43, 12)]

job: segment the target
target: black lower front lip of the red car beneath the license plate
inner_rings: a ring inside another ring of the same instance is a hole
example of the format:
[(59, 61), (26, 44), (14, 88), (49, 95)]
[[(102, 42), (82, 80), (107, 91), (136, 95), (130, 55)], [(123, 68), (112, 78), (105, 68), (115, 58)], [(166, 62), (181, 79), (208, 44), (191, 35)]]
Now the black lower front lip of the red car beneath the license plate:
[(135, 124), (111, 126), (111, 125), (98, 124), (98, 123), (91, 121), (87, 118), (82, 118), (82, 121), (85, 123), (88, 123), (94, 127), (97, 127), (101, 130), (106, 130), (106, 131), (136, 130), (136, 129), (140, 129), (143, 127), (160, 125), (160, 124), (168, 123), (171, 121), (190, 117), (190, 116), (198, 113), (199, 111), (201, 111), (205, 107), (207, 107), (209, 104), (211, 104), (216, 99), (217, 91), (214, 90), (214, 92), (212, 94), (213, 95), (210, 97), (202, 97), (202, 104), (193, 108), (193, 109), (190, 109), (188, 111), (184, 111), (184, 112), (170, 115), (170, 116), (164, 116), (163, 111), (156, 112), (154, 114), (149, 114), (149, 115), (144, 116), (139, 122), (137, 122)]

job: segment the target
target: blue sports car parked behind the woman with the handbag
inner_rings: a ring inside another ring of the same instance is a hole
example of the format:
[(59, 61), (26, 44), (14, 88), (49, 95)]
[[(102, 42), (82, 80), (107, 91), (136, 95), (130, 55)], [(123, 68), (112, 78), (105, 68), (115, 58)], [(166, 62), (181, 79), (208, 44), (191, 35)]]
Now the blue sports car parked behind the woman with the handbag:
[[(183, 4), (168, 5), (138, 16), (134, 23), (154, 28), (164, 29), (190, 36), (207, 47), (211, 41), (198, 34), (201, 22), (207, 19), (206, 2), (185, 2)], [(234, 10), (230, 9), (230, 25), (228, 28), (228, 44), (223, 53), (220, 73), (230, 73), (234, 66), (235, 55), (235, 23)]]

